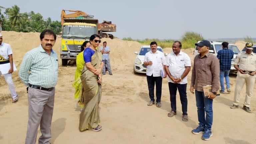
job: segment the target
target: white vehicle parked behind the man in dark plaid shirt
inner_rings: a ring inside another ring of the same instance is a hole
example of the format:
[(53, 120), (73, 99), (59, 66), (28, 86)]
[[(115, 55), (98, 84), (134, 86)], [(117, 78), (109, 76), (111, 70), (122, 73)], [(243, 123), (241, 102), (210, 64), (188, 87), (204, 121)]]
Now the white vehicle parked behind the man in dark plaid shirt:
[[(197, 43), (199, 43), (200, 41), (198, 41)], [(218, 54), (218, 51), (219, 50), (222, 50), (222, 42), (214, 42), (214, 41), (210, 41), (211, 43), (211, 47), (209, 49), (209, 52), (212, 53), (213, 55), (217, 56)], [(198, 46), (195, 47), (195, 51), (194, 51), (194, 57), (199, 54), (198, 53), (198, 49), (197, 49)], [(231, 60), (231, 69), (230, 69), (230, 72), (229, 73), (237, 73), (237, 70), (234, 68), (234, 61), (235, 61), (235, 58), (236, 58), (236, 55), (238, 53), (240, 53), (240, 50), (238, 49), (238, 47), (234, 44), (229, 44), (228, 45), (228, 49), (232, 50), (234, 52), (234, 56), (233, 56), (233, 59)]]

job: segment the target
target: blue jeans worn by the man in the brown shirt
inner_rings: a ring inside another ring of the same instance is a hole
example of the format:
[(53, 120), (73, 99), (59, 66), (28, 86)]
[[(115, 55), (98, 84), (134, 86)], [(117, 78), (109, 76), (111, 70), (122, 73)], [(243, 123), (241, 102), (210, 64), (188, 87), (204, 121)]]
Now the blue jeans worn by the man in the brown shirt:
[[(213, 110), (212, 99), (204, 97), (204, 92), (195, 91), (196, 106), (199, 125), (204, 127), (204, 130), (212, 130)], [(206, 113), (206, 117), (205, 117)]]

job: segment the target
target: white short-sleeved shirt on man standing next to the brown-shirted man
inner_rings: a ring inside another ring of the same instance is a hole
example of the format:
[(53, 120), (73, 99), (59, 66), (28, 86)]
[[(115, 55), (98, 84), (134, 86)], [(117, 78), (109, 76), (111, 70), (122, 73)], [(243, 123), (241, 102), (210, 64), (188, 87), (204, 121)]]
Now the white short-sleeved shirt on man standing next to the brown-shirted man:
[[(178, 56), (176, 56), (175, 53), (172, 52), (167, 55), (164, 65), (169, 66), (169, 72), (171, 76), (173, 76), (174, 78), (179, 78), (184, 73), (186, 66), (191, 67), (191, 60), (189, 56), (182, 51), (180, 51)], [(169, 77), (168, 82), (174, 83)], [(179, 82), (179, 84), (186, 83), (188, 83), (187, 76), (184, 77), (181, 82)]]

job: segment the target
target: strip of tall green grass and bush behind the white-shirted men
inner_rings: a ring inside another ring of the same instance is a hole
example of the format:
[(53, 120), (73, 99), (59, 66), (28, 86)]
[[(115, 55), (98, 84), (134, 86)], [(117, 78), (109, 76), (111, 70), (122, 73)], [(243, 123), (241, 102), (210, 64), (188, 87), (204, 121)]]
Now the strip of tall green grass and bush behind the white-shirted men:
[[(194, 48), (195, 43), (197, 43), (197, 41), (200, 41), (203, 39), (204, 38), (199, 33), (186, 31), (180, 40), (182, 43), (182, 49)], [(143, 45), (149, 45), (152, 41), (155, 41), (155, 42), (157, 42), (157, 45), (162, 48), (172, 47), (172, 44), (175, 41), (173, 39), (163, 39), (163, 40), (156, 39), (156, 38), (154, 38), (154, 39), (148, 39), (148, 38), (133, 39), (131, 37), (123, 38), (122, 40), (137, 41)]]

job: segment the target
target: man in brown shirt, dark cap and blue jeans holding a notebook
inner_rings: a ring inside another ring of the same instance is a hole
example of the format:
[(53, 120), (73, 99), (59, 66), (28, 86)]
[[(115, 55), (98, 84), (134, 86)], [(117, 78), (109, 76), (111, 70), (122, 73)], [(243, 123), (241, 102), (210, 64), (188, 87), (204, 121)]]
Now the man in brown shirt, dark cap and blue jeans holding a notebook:
[[(192, 133), (200, 134), (204, 132), (202, 139), (210, 140), (213, 121), (212, 102), (220, 87), (220, 64), (218, 58), (209, 53), (211, 47), (209, 41), (202, 40), (195, 45), (198, 46), (198, 53), (200, 54), (196, 55), (194, 59), (190, 92), (194, 94), (195, 89), (199, 126), (193, 129)], [(205, 97), (203, 92), (203, 86), (206, 85), (212, 85), (208, 97)]]

